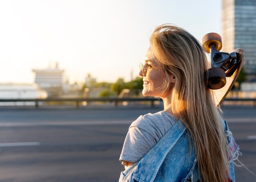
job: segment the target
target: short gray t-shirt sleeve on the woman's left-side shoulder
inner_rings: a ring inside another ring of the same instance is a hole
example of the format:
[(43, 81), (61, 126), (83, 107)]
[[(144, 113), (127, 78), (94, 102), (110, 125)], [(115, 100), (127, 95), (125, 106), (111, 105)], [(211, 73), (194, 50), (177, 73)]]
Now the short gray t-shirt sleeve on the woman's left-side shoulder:
[(141, 160), (156, 143), (157, 141), (150, 127), (143, 116), (140, 116), (129, 127), (119, 160), (122, 162), (137, 162)]

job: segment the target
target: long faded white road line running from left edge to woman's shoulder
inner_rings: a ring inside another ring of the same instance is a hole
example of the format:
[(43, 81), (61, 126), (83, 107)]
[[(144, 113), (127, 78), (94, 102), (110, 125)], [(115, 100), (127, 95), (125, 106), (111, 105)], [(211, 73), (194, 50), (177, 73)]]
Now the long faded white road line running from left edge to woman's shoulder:
[(127, 125), (132, 121), (69, 121), (69, 122), (15, 122), (0, 123), (0, 127), (22, 127), (22, 126), (74, 126), (74, 125)]

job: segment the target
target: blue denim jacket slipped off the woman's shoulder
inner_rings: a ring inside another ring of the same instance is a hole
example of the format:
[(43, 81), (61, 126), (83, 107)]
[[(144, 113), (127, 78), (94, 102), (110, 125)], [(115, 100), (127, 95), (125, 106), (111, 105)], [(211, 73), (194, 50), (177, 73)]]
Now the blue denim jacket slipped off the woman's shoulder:
[[(223, 121), (229, 158), (228, 177), (235, 182), (233, 160), (239, 147)], [(119, 182), (199, 182), (197, 157), (190, 149), (186, 127), (179, 120), (137, 163), (121, 172)]]

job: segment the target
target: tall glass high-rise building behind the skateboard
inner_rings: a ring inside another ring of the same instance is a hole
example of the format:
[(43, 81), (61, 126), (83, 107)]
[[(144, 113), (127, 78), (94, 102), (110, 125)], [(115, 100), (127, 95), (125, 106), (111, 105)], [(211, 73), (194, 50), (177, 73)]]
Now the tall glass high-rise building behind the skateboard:
[(222, 0), (222, 51), (245, 50), (248, 81), (256, 77), (256, 0)]

